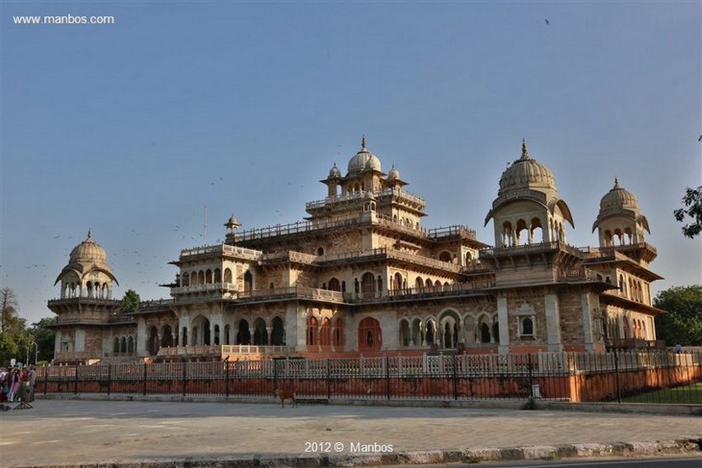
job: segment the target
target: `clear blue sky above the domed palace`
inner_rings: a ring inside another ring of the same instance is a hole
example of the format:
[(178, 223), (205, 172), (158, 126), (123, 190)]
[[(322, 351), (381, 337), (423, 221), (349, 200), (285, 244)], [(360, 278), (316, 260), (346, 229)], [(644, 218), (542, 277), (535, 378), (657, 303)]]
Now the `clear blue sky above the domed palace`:
[[(168, 297), (181, 248), (300, 220), (361, 135), (428, 202), (483, 221), (508, 161), (555, 175), (576, 246), (615, 175), (658, 248), (654, 292), (700, 283), (673, 210), (702, 179), (701, 4), (1, 1), (1, 286), (29, 321), (88, 228), (120, 287)], [(114, 25), (15, 25), (16, 15)], [(548, 19), (548, 24), (545, 20)]]

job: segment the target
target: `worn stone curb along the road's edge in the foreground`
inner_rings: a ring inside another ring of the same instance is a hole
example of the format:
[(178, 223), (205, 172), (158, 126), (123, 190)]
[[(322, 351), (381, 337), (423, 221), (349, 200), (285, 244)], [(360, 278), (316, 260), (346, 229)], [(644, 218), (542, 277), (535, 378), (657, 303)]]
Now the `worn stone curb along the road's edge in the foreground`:
[[(416, 450), (397, 453), (350, 455), (239, 455), (234, 457), (187, 457), (173, 460), (132, 460), (80, 464), (41, 465), (41, 468), (245, 468), (245, 467), (366, 467), (388, 464), (442, 464), (559, 460), (587, 457), (633, 457), (656, 455), (702, 455), (702, 438), (654, 442), (575, 443), (555, 446)], [(15, 468), (40, 468), (23, 465)]]

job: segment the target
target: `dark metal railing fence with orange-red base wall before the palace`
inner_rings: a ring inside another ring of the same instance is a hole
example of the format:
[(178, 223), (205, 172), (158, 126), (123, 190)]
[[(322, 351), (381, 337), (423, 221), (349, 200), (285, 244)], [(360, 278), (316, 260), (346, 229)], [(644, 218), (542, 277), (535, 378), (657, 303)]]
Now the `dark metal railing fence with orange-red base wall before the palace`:
[[(40, 368), (36, 392), (272, 396), (283, 388), (302, 399), (622, 401), (677, 389), (679, 402), (702, 403), (701, 363), (700, 353), (661, 352), (114, 363)], [(659, 401), (675, 402), (671, 395)]]

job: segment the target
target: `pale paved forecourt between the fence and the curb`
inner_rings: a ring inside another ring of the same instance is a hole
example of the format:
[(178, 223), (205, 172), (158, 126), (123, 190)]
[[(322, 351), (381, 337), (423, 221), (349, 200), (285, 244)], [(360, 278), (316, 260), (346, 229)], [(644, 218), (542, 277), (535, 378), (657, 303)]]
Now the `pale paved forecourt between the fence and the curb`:
[[(216, 459), (250, 462), (257, 457), (260, 462), (263, 454), (289, 456), (290, 460), (352, 457), (367, 448), (377, 455), (532, 446), (530, 450), (538, 455), (540, 447), (559, 444), (674, 439), (702, 439), (702, 418), (545, 410), (38, 400), (32, 409), (0, 413), (0, 466), (100, 462), (157, 466), (154, 462), (167, 460), (192, 460), (201, 466), (200, 461)], [(430, 458), (425, 461), (432, 461)]]

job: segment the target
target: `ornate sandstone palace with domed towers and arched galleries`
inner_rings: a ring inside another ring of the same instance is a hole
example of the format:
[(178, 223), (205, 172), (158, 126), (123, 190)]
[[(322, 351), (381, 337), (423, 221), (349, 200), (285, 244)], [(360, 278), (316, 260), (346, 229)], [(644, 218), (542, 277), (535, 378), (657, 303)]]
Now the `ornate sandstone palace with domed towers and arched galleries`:
[[(55, 362), (262, 359), (384, 353), (604, 352), (656, 345), (649, 269), (656, 249), (634, 194), (614, 180), (592, 225), (574, 220), (548, 167), (522, 144), (485, 224), (428, 229), (425, 201), (362, 147), (326, 197), (290, 225), (240, 229), (180, 251), (168, 300), (119, 313), (117, 276), (88, 232), (56, 279)], [(487, 207), (486, 207), (487, 208)], [(119, 272), (118, 272), (119, 273)]]

